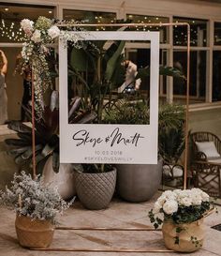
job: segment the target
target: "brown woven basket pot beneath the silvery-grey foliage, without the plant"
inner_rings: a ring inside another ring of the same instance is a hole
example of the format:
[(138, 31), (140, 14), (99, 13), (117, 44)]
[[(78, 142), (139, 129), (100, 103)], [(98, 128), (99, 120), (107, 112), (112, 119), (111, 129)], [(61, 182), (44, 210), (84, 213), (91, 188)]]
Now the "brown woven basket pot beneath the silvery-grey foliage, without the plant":
[(52, 243), (54, 226), (50, 220), (17, 216), (15, 228), (19, 243), (24, 248), (48, 248)]

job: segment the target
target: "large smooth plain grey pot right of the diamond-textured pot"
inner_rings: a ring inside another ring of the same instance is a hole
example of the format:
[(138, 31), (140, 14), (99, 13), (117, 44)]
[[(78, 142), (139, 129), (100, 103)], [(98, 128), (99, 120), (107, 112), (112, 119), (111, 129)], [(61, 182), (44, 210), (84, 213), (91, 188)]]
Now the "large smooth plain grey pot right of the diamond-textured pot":
[(157, 164), (117, 165), (117, 192), (128, 202), (140, 203), (150, 200), (160, 186), (162, 159)]

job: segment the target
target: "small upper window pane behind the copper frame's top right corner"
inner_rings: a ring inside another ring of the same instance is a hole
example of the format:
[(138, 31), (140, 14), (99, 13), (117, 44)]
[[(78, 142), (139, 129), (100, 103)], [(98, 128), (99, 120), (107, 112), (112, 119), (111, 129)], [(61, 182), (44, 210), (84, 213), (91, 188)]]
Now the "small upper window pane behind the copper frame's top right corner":
[[(190, 45), (207, 46), (207, 21), (189, 18), (174, 17), (173, 23), (190, 24)], [(187, 45), (187, 28), (186, 26), (173, 27), (173, 45)]]

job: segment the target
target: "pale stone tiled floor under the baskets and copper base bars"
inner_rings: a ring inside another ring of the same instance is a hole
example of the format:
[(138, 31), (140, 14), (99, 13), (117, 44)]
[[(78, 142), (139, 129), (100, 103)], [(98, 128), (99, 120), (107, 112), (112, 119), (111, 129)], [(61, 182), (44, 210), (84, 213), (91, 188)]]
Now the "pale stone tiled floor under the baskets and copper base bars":
[[(125, 203), (113, 200), (106, 210), (89, 211), (82, 208), (81, 203), (74, 203), (73, 207), (59, 219), (60, 225), (74, 227), (151, 227), (148, 211), (153, 206), (158, 194), (148, 203)], [(219, 207), (221, 209), (221, 207)], [(16, 239), (14, 229), (14, 213), (5, 208), (0, 209), (0, 255), (1, 256), (140, 256), (140, 255), (177, 255), (167, 253), (134, 253), (134, 252), (55, 252), (33, 251), (21, 248)], [(214, 214), (205, 218), (206, 239), (199, 251), (192, 255), (213, 256), (221, 255), (221, 232), (211, 229), (211, 226), (221, 223), (219, 215)], [(157, 248), (165, 249), (161, 232), (148, 231), (56, 231), (52, 248)], [(189, 254), (184, 254), (189, 255)]]

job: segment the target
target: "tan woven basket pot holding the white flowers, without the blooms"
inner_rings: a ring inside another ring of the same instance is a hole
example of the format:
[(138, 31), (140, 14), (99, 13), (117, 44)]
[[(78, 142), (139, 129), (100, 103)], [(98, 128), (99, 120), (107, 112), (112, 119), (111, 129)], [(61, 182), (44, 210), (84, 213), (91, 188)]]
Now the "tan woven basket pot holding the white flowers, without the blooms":
[[(203, 218), (192, 223), (175, 224), (171, 221), (165, 221), (162, 226), (164, 242), (167, 248), (181, 252), (191, 252), (201, 248), (204, 231), (203, 231)], [(176, 233), (177, 228), (181, 228), (181, 233)], [(174, 237), (179, 236), (179, 244), (175, 244)], [(199, 246), (196, 247), (191, 241), (191, 236), (197, 237)]]

